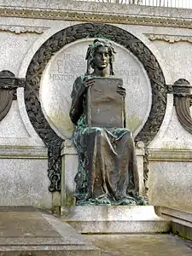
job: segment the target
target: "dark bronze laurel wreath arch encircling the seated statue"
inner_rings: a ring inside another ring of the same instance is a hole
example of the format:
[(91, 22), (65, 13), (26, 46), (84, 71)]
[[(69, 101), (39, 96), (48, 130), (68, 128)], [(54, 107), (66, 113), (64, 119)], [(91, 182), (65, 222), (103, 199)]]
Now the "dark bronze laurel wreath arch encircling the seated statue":
[[(165, 79), (160, 65), (152, 52), (141, 40), (125, 30), (108, 24), (84, 23), (69, 26), (49, 38), (33, 56), (26, 73), (25, 102), (26, 111), (34, 129), (38, 132), (48, 147), (48, 176), (50, 179), (49, 191), (61, 190), (61, 137), (49, 126), (44, 118), (39, 102), (39, 85), (44, 68), (52, 55), (64, 45), (82, 38), (108, 38), (129, 49), (148, 73), (152, 87), (152, 108), (148, 120), (139, 132), (136, 141), (143, 141), (146, 145), (154, 138), (166, 112), (166, 87)], [(128, 64), (129, 65), (129, 64)], [(133, 84), (134, 86), (134, 84)]]

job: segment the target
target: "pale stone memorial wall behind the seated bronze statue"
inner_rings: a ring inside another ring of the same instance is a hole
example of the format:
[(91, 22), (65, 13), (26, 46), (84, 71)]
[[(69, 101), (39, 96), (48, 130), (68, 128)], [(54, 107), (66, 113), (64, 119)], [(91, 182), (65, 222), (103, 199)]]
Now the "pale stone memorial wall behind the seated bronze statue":
[[(86, 49), (104, 35), (103, 24), (107, 23), (110, 28), (106, 26), (104, 36), (117, 51), (114, 73), (124, 80), (127, 91), (127, 128), (145, 145), (144, 182), (149, 203), (191, 204), (192, 132), (182, 123), (186, 124), (186, 119), (190, 123), (190, 114), (184, 121), (177, 117), (172, 84), (178, 79), (192, 84), (192, 16), (184, 9), (131, 6), (122, 10), (122, 5), (116, 4), (61, 2), (0, 1), (0, 71), (9, 70), (19, 81), (26, 81), (17, 86), (9, 112), (0, 121), (0, 205), (52, 207), (55, 194), (48, 189), (52, 175), (48, 177), (48, 169), (56, 169), (59, 153), (54, 156), (51, 152), (54, 145), (59, 147), (72, 135), (68, 111), (73, 81), (85, 73)], [(100, 26), (94, 28), (95, 37), (91, 32), (89, 38), (84, 35), (89, 32), (85, 23), (94, 20)], [(77, 25), (84, 27), (79, 38), (73, 29)], [(115, 38), (108, 32), (111, 26), (114, 32), (118, 30)], [(65, 29), (71, 31), (64, 44)], [(130, 40), (119, 39), (124, 32)], [(58, 38), (54, 41), (55, 34)], [(35, 73), (38, 75), (32, 77)], [(29, 81), (37, 87), (30, 87)], [(5, 87), (1, 82), (1, 90)], [(51, 146), (48, 130), (61, 141)]]

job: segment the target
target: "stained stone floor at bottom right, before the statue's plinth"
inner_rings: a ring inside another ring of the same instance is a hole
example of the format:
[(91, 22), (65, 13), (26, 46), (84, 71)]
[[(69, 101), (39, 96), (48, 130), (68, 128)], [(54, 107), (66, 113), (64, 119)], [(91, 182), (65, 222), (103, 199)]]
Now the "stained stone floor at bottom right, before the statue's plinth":
[(86, 235), (102, 256), (191, 256), (192, 242), (172, 235)]

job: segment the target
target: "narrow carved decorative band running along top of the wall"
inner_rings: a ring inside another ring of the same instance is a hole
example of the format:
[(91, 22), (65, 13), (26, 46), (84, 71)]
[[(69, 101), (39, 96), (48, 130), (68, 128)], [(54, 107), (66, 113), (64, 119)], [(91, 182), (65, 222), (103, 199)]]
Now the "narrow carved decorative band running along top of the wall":
[(77, 12), (63, 9), (20, 9), (0, 7), (0, 16), (47, 20), (74, 20), (114, 24), (136, 24), (143, 26), (171, 26), (192, 28), (191, 19), (179, 19), (145, 15), (117, 15), (98, 12)]

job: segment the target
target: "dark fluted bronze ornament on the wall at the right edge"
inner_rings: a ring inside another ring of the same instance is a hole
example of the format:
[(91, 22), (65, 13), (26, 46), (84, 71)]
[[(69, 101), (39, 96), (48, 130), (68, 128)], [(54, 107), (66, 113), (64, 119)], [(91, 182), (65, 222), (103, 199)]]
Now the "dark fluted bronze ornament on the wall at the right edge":
[(177, 118), (183, 128), (192, 134), (192, 118), (190, 113), (191, 92), (192, 86), (186, 79), (178, 79), (172, 86)]

